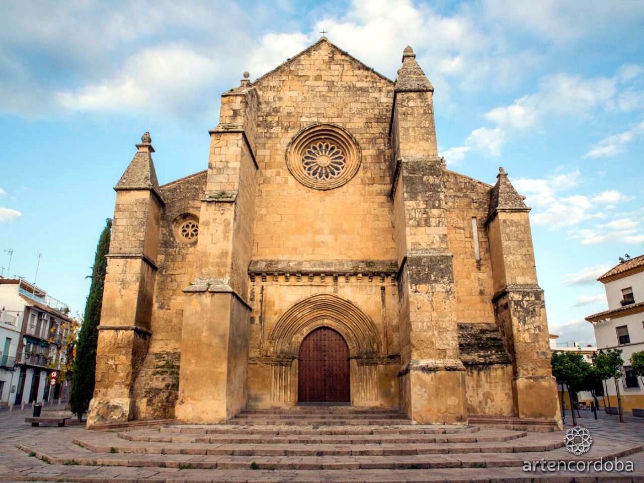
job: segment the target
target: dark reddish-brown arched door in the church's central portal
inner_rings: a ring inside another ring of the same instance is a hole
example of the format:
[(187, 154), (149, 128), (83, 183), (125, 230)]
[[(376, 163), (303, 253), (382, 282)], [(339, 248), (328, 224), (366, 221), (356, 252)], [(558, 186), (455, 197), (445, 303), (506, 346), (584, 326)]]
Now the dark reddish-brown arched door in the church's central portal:
[(350, 401), (349, 348), (344, 337), (328, 327), (313, 330), (299, 346), (298, 401)]

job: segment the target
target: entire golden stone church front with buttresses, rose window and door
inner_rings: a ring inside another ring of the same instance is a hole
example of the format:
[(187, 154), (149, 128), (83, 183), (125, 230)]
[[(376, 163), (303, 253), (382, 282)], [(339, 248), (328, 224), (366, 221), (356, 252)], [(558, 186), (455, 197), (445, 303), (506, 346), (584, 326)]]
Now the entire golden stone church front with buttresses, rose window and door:
[(529, 208), (446, 168), (411, 48), (395, 82), (322, 37), (222, 94), (208, 169), (117, 202), (88, 425), (245, 407), (558, 423)]

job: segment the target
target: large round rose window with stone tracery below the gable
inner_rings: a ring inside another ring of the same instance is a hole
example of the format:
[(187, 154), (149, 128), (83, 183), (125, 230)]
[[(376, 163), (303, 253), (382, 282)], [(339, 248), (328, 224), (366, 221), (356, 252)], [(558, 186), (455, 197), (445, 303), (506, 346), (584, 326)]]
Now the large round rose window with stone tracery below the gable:
[(332, 189), (357, 173), (360, 156), (360, 147), (345, 129), (334, 124), (314, 124), (291, 140), (286, 161), (289, 171), (301, 184)]

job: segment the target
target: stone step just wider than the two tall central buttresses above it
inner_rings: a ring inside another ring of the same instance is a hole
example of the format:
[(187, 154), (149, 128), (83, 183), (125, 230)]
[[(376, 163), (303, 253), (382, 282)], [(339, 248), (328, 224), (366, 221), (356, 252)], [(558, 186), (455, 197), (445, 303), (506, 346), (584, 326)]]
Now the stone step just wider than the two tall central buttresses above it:
[(450, 424), (387, 424), (384, 426), (334, 426), (323, 425), (314, 429), (314, 426), (287, 426), (249, 424), (173, 424), (162, 426), (159, 433), (164, 434), (225, 434), (225, 435), (422, 435), (422, 434), (469, 434), (480, 431), (478, 426), (460, 426)]

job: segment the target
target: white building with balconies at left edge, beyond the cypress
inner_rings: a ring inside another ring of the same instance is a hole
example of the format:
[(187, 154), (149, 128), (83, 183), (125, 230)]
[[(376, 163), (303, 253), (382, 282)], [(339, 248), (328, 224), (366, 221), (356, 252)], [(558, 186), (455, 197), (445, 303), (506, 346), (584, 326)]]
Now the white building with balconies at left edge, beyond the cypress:
[(61, 397), (66, 384), (48, 384), (66, 363), (66, 338), (76, 322), (69, 308), (22, 278), (0, 278), (0, 403)]

